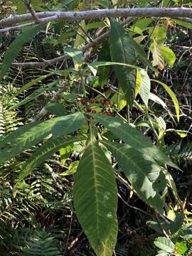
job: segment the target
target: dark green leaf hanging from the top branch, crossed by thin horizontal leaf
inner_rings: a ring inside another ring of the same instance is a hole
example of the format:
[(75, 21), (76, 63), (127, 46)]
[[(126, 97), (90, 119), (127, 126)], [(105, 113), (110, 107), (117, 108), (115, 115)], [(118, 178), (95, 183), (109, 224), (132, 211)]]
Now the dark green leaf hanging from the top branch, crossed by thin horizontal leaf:
[[(132, 40), (129, 38), (127, 31), (125, 31), (114, 19), (111, 21), (110, 51), (112, 61), (137, 65), (136, 53)], [(119, 86), (122, 87), (122, 90), (127, 95), (128, 103), (130, 107), (132, 107), (135, 95), (137, 70), (115, 65), (114, 71), (117, 75)]]

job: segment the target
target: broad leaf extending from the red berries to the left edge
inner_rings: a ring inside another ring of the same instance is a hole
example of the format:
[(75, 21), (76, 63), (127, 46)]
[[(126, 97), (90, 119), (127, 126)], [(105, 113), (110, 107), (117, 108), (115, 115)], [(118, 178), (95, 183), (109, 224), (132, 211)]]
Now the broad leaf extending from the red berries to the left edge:
[[(56, 117), (45, 122), (34, 122), (27, 124), (15, 132), (11, 133), (0, 143), (0, 163), (21, 154), (24, 150), (38, 144), (41, 140), (51, 134), (51, 129), (55, 127), (63, 128), (60, 131), (56, 129), (55, 135), (67, 135), (74, 132), (85, 123), (84, 115), (80, 112), (69, 114), (63, 117)], [(62, 124), (62, 126), (61, 126)]]

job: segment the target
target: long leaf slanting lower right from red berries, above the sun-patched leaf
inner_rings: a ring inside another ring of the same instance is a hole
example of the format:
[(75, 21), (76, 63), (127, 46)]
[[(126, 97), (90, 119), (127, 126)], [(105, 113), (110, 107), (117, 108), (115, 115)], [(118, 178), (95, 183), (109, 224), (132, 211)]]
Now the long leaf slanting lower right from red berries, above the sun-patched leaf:
[(168, 164), (178, 169), (176, 164), (174, 164), (163, 151), (158, 149), (147, 137), (144, 137), (141, 132), (137, 131), (137, 129), (134, 129), (129, 124), (124, 124), (117, 117), (107, 117), (103, 114), (92, 114), (92, 116), (107, 127), (107, 129), (117, 136), (117, 138), (122, 139), (129, 144), (129, 146), (142, 151), (144, 154), (159, 161), (161, 164)]

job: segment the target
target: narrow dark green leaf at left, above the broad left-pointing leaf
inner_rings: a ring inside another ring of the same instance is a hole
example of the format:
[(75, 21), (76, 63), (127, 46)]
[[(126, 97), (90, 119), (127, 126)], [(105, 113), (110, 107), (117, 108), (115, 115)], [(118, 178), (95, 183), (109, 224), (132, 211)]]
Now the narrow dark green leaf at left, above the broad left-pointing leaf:
[(13, 107), (10, 108), (10, 110), (16, 109), (16, 107), (20, 107), (28, 102), (31, 102), (31, 100), (34, 100), (36, 99), (36, 97), (42, 95), (43, 92), (50, 90), (56, 83), (57, 82), (50, 82), (50, 84), (40, 87), (38, 90), (32, 92), (31, 95), (28, 95), (28, 97), (26, 97), (24, 100), (21, 100), (21, 102), (16, 103)]

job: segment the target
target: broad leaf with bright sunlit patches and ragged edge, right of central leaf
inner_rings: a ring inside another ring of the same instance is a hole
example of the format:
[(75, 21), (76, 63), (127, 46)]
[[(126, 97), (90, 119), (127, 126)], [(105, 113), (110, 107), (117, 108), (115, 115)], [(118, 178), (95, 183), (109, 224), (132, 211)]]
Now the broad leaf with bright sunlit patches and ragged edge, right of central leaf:
[[(109, 141), (102, 141), (102, 144), (112, 151), (138, 196), (159, 213), (164, 213), (165, 204), (159, 192), (164, 191), (166, 179), (154, 159), (127, 144)], [(161, 187), (160, 183), (163, 183)]]

